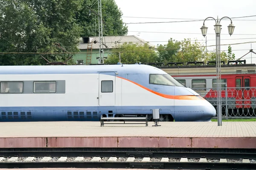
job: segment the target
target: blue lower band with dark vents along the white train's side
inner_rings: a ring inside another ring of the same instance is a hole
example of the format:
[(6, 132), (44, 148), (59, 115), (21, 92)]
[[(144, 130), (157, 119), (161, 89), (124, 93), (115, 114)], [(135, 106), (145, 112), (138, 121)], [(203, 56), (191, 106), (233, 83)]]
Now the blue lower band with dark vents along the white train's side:
[[(105, 114), (151, 114), (161, 109), (175, 121), (209, 121), (209, 106), (126, 106), (126, 107), (0, 107), (0, 121), (99, 121)], [(174, 111), (175, 110), (175, 111)]]

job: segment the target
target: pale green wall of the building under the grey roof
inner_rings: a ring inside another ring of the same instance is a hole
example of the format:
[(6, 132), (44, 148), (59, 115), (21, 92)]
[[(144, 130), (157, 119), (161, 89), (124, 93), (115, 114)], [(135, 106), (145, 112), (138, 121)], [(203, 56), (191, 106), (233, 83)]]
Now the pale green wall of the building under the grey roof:
[[(75, 54), (73, 56), (74, 61), (77, 63), (79, 61), (83, 61), (83, 64), (86, 64), (86, 56), (87, 56), (87, 50), (80, 50), (81, 53)], [(111, 53), (111, 49), (104, 49), (104, 57), (108, 57), (108, 55)], [(93, 49), (92, 51), (92, 58), (91, 58), (91, 63), (92, 64), (97, 64), (99, 63), (99, 49)]]

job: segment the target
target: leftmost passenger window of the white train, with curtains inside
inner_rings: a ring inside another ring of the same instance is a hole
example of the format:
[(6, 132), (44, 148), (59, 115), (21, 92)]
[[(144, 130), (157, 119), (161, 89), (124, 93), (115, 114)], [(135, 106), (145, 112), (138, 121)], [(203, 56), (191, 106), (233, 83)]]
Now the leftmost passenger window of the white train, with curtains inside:
[(22, 81), (2, 81), (1, 93), (23, 93)]

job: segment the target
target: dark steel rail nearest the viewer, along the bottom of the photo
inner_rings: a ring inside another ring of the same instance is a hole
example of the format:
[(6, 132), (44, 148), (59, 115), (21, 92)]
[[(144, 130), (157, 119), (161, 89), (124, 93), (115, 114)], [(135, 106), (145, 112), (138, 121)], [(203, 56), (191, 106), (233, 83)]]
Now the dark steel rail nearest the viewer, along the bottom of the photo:
[(3, 162), (0, 168), (142, 168), (197, 170), (256, 170), (255, 163), (220, 162)]

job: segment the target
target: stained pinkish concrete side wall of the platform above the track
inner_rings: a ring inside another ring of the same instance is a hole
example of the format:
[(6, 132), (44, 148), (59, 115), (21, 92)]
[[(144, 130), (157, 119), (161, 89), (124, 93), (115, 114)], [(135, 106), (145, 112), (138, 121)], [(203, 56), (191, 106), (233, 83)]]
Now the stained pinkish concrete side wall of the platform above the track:
[(14, 137), (0, 138), (0, 147), (256, 148), (256, 137)]

